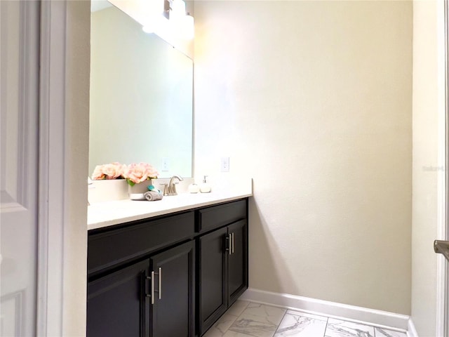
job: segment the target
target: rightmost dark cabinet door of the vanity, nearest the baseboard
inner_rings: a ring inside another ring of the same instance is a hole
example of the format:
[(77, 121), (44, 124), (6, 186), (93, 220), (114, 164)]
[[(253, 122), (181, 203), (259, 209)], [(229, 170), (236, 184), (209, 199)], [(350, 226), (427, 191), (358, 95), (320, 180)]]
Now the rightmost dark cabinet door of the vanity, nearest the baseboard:
[(228, 226), (231, 254), (228, 256), (229, 305), (248, 288), (248, 240), (246, 220)]

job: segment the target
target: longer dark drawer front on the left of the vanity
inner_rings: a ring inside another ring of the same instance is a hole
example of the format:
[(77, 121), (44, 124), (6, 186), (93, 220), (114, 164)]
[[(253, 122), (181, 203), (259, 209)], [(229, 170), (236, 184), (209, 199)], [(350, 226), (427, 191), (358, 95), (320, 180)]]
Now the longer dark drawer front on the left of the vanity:
[(88, 274), (192, 237), (194, 227), (189, 212), (89, 235)]

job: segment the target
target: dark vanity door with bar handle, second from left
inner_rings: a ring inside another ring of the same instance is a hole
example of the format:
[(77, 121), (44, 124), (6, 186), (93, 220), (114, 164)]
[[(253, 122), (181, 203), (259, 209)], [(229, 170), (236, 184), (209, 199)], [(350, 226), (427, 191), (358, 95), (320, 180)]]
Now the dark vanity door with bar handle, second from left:
[(194, 336), (194, 252), (191, 241), (151, 258), (155, 272), (152, 337)]

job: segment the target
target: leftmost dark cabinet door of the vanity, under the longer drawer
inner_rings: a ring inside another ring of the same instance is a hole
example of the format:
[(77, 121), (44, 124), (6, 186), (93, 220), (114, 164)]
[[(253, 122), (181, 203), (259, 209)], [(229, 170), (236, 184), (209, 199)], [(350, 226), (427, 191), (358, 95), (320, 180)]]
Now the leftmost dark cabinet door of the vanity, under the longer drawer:
[(145, 277), (149, 260), (125, 267), (88, 283), (88, 337), (148, 337)]

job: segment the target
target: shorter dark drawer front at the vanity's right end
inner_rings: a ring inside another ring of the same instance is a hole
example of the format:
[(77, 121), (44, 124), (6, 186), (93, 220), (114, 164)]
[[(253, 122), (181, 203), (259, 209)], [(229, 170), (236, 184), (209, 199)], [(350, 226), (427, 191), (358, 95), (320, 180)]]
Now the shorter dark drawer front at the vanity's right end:
[(246, 199), (199, 210), (197, 232), (207, 232), (246, 218)]

